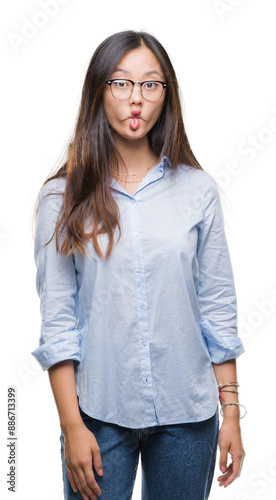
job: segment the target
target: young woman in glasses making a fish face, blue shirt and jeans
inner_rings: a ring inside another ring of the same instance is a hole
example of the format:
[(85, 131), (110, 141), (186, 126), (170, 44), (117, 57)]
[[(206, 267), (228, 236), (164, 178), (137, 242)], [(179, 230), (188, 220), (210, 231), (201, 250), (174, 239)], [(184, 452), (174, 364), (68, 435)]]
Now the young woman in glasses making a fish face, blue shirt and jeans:
[(40, 192), (35, 259), (32, 354), (60, 417), (66, 500), (130, 499), (140, 454), (143, 500), (207, 499), (217, 444), (232, 483), (244, 347), (223, 215), (152, 35), (95, 51), (67, 161)]

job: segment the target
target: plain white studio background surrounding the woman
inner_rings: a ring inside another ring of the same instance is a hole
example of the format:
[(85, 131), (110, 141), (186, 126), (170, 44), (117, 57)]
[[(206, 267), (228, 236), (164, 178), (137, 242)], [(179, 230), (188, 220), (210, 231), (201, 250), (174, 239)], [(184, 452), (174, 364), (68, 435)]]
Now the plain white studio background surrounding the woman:
[[(42, 7), (47, 3), (56, 4), (52, 17)], [(274, 499), (274, 0), (14, 0), (2, 4), (1, 14), (1, 498), (13, 498), (6, 484), (10, 385), (18, 395), (16, 497), (63, 498), (57, 411), (48, 375), (30, 354), (40, 329), (32, 210), (73, 132), (93, 51), (112, 33), (142, 29), (171, 56), (192, 149), (222, 187), (246, 348), (238, 359), (240, 402), (248, 410), (241, 420), (243, 471), (219, 488), (217, 463), (210, 498)], [(139, 464), (134, 499), (140, 484)]]

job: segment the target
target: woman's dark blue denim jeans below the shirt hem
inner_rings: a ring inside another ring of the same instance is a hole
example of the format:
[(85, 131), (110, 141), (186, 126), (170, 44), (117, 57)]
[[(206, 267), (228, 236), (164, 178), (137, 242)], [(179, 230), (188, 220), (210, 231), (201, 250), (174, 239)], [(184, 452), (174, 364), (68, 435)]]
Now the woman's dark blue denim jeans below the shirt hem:
[[(86, 415), (82, 419), (97, 439), (103, 476), (95, 474), (101, 500), (129, 500), (137, 472), (142, 467), (142, 500), (206, 500), (214, 476), (219, 432), (218, 408), (202, 422), (130, 429)], [(61, 457), (65, 500), (81, 500), (71, 488)]]

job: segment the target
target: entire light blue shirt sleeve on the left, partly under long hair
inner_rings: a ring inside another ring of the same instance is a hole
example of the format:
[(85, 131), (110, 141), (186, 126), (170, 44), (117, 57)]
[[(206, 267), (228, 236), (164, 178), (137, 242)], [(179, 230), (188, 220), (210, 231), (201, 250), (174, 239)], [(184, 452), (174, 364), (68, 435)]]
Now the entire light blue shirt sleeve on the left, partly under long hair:
[(31, 354), (43, 370), (66, 359), (80, 361), (76, 317), (77, 280), (72, 255), (56, 251), (55, 236), (48, 245), (59, 215), (63, 181), (51, 180), (40, 192), (35, 217), (34, 257), (36, 288), (40, 297), (41, 331), (39, 347)]

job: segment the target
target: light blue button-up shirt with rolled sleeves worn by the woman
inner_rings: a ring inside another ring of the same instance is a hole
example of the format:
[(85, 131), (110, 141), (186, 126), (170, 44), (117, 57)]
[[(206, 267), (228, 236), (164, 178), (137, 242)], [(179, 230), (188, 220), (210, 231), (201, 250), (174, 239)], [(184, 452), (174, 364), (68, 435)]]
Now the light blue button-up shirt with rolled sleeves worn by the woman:
[[(54, 179), (41, 191), (35, 262), (41, 299), (44, 370), (75, 361), (82, 410), (130, 428), (197, 422), (218, 405), (212, 362), (244, 352), (223, 214), (205, 171), (166, 157), (134, 196), (114, 179), (121, 239), (110, 258), (92, 243), (86, 256), (56, 253), (55, 227), (64, 190)], [(89, 227), (91, 229), (91, 227)], [(105, 251), (107, 235), (99, 237)]]

